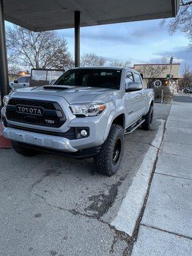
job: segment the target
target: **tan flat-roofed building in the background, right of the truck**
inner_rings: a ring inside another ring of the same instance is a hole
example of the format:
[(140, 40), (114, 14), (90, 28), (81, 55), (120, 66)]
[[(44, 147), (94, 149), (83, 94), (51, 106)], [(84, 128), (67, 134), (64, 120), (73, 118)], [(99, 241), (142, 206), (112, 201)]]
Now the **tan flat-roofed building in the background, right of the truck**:
[(143, 83), (145, 88), (159, 87), (161, 85), (169, 85), (173, 92), (179, 90), (179, 79), (182, 78), (179, 74), (180, 63), (170, 64), (136, 64), (133, 67), (135, 70), (143, 74)]

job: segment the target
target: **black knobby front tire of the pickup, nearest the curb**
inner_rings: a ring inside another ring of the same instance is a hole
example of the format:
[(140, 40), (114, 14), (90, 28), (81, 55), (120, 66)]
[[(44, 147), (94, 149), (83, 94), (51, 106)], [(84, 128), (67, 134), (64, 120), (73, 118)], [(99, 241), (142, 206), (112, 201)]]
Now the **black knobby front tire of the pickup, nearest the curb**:
[[(118, 150), (118, 148), (120, 148), (120, 150)], [(119, 152), (117, 157), (115, 155), (116, 151)], [(99, 154), (93, 158), (97, 172), (108, 176), (114, 175), (120, 167), (123, 152), (124, 129), (120, 125), (113, 124), (109, 131), (108, 138), (102, 144)]]

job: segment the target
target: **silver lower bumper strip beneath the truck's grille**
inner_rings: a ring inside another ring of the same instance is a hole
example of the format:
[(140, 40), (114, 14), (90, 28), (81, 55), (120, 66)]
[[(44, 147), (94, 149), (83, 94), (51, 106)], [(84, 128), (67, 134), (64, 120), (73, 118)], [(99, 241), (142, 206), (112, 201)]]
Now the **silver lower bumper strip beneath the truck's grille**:
[(76, 152), (77, 149), (70, 145), (70, 140), (57, 136), (37, 134), (35, 132), (20, 131), (10, 127), (5, 127), (3, 136), (13, 141), (32, 144), (38, 147), (52, 148), (66, 152)]

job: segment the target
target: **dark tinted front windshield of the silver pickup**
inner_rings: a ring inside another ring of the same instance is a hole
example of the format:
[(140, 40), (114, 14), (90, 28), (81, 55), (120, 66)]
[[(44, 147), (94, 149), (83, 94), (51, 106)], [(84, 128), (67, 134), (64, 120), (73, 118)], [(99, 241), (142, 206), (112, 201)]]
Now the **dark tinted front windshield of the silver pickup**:
[(55, 85), (90, 86), (118, 90), (122, 70), (108, 68), (79, 68), (68, 70)]

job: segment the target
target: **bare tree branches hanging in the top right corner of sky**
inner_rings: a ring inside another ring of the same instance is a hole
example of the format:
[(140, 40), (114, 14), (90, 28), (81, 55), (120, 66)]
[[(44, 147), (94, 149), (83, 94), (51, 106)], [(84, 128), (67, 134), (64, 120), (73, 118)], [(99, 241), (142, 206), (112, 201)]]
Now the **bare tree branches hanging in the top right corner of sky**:
[[(166, 23), (166, 20), (161, 21), (161, 26)], [(168, 29), (170, 35), (173, 35), (177, 29), (182, 31), (190, 40), (192, 40), (192, 1), (180, 0), (179, 13), (174, 19), (168, 22)], [(189, 51), (192, 50), (191, 44), (189, 44)]]

